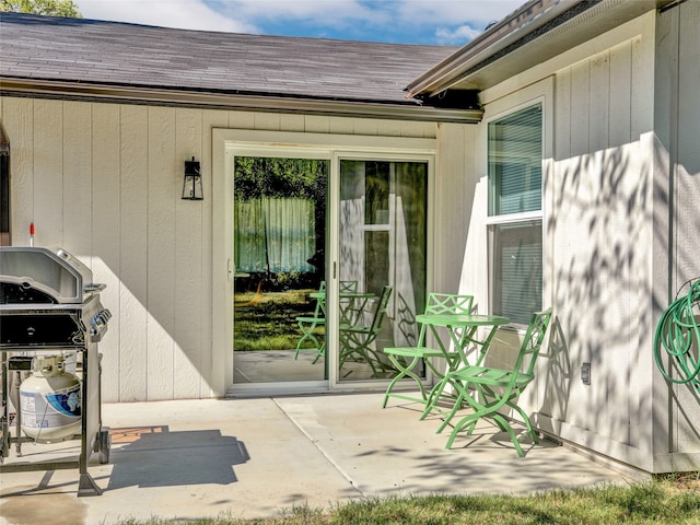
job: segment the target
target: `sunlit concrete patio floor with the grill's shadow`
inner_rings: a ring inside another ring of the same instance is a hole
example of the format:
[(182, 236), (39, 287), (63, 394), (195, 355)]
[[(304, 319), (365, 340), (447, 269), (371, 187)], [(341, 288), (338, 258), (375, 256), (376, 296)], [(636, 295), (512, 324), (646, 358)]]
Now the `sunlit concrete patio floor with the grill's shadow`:
[[(104, 405), (109, 464), (95, 454), (89, 469), (104, 493), (78, 498), (73, 469), (5, 474), (0, 523), (252, 518), (364, 498), (520, 494), (635, 479), (550, 441), (526, 443), (520, 458), (488, 423), (446, 451), (436, 417), (419, 421), (418, 405), (392, 400), (382, 409), (381, 401), (373, 393)], [(43, 446), (23, 445), (21, 459), (43, 458)], [(77, 441), (61, 446), (79, 451)]]

